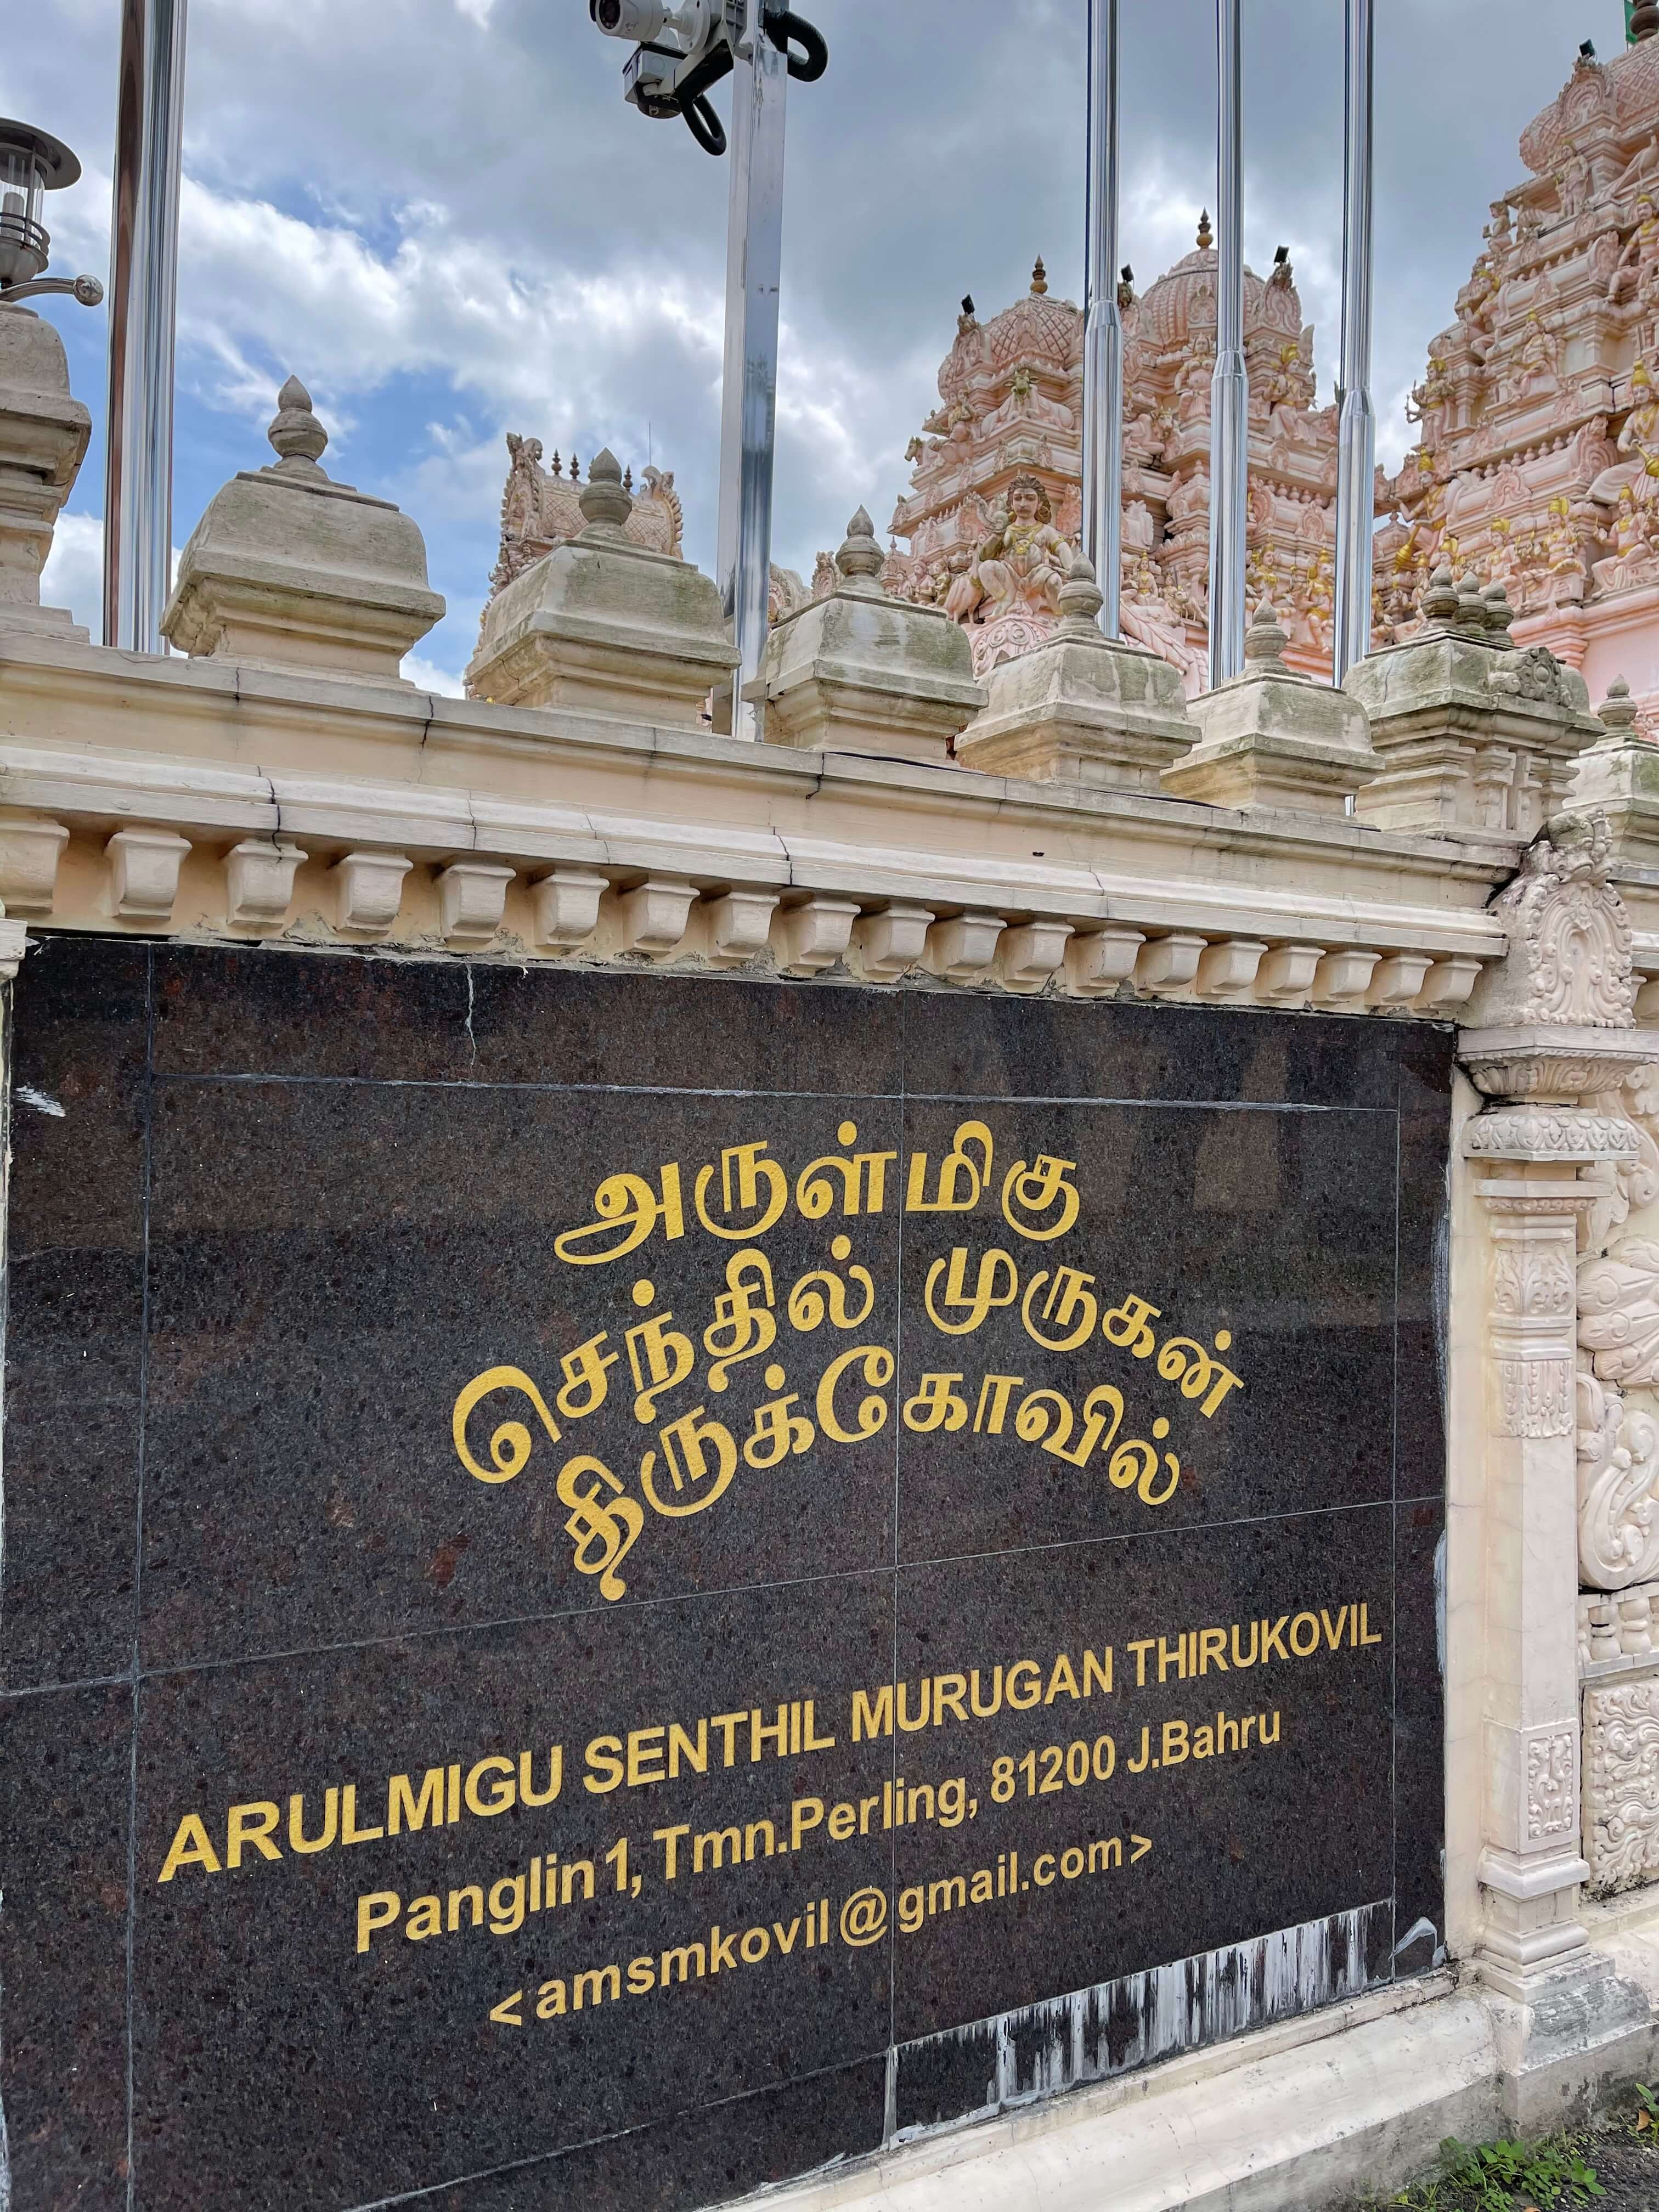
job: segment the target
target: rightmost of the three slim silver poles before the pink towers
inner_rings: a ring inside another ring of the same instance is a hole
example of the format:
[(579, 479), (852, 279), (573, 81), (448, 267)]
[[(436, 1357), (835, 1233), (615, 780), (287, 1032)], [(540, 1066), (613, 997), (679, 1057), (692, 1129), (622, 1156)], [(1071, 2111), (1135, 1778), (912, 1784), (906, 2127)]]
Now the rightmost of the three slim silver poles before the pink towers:
[(1332, 681), (1371, 650), (1371, 0), (1343, 35), (1343, 389), (1336, 420), (1336, 646)]

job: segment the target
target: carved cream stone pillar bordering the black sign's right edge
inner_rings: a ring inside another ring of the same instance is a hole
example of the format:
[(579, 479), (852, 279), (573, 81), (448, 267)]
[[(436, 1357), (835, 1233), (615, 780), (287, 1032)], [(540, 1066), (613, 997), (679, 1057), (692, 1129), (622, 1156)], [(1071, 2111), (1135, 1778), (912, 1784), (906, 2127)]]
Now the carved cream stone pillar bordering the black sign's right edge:
[[(1471, 998), (1460, 1057), (1484, 1110), (1464, 1172), (1484, 1230), (1484, 1604), (1480, 1978), (1498, 1997), (1511, 2112), (1544, 2121), (1586, 2044), (1648, 2033), (1579, 1918), (1577, 1245), (1601, 1197), (1582, 1168), (1637, 1130), (1601, 1110), (1659, 1037), (1635, 1029), (1630, 925), (1606, 823), (1557, 816), (1495, 900), (1509, 956)], [(1584, 1104), (1593, 1102), (1593, 1104)], [(1469, 1663), (1473, 1655), (1460, 1655)]]

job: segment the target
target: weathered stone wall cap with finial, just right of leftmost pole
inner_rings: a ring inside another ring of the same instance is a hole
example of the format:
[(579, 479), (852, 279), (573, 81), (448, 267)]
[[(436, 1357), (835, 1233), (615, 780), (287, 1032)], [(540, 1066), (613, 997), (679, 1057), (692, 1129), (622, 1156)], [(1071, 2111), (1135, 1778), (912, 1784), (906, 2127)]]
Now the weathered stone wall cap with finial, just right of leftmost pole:
[(268, 436), (276, 460), (232, 476), (190, 533), (164, 637), (197, 659), (403, 684), (403, 655), (445, 611), (420, 531), (327, 476), (327, 431), (296, 376)]

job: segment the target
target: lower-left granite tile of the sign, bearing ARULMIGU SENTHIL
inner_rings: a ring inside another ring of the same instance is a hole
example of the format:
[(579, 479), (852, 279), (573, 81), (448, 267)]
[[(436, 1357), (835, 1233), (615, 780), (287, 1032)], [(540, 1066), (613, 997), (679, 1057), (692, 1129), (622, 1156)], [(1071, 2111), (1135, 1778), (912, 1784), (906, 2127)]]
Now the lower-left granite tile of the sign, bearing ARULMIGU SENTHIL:
[[(889, 1650), (891, 1582), (876, 1575), (153, 1677), (139, 2201), (354, 2205), (880, 2053), (887, 1947), (816, 1942), (814, 1913), (827, 1896), (834, 1938), (849, 1893), (885, 1891), (889, 1838), (790, 1838), (796, 1798), (880, 1798), (887, 1745), (856, 1745), (843, 1714)], [(779, 1705), (792, 1734), (761, 1734)], [(728, 1725), (708, 1725), (719, 1714)], [(549, 1790), (553, 1745), (557, 1796), (502, 1803), (524, 1778)], [(436, 1825), (451, 1763), (456, 1818)], [(409, 1778), (407, 1803), (392, 1776)], [(274, 1840), (241, 1845), (237, 1867), (232, 1805), (272, 1807)], [(330, 1809), (334, 1843), (296, 1854), (290, 1823), (323, 1843)], [(192, 1814), (219, 1871), (188, 1840), (168, 1874)], [(529, 1869), (542, 1858), (546, 1885), (549, 1854), (555, 1878), (573, 1869), (568, 1896), (560, 1878), (557, 1907), (531, 1911)], [(553, 1984), (557, 2000), (538, 1997)], [(515, 2022), (491, 2020), (513, 1991)], [(542, 2002), (560, 2015), (538, 2017)], [(319, 2064), (345, 2051), (349, 2066)]]

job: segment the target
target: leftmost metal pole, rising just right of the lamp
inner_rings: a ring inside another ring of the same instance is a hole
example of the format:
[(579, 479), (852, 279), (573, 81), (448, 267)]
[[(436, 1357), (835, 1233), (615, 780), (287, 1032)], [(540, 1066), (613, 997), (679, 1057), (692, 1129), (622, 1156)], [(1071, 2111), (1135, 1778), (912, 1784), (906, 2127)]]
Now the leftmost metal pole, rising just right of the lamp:
[(173, 325), (186, 0), (122, 0), (111, 210), (104, 644), (161, 650), (173, 582)]

